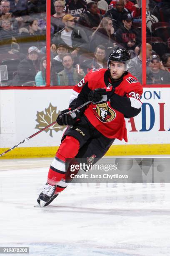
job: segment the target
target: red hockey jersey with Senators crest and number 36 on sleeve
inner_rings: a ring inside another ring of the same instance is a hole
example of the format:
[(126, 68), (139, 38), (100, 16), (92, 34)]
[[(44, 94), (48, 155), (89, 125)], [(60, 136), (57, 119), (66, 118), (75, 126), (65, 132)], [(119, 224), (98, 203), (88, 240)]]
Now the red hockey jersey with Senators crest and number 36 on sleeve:
[[(80, 94), (87, 94), (90, 90), (96, 88), (105, 88), (107, 92), (112, 91), (112, 84), (107, 79), (107, 69), (92, 69), (75, 87), (70, 101), (74, 100)], [(131, 98), (133, 107), (138, 105), (140, 108), (140, 96), (143, 87), (138, 80), (130, 73), (126, 74), (122, 82), (115, 87), (115, 93), (120, 96)], [(117, 138), (119, 140), (127, 139), (127, 130), (125, 127), (124, 114), (111, 107), (110, 101), (97, 104), (90, 103), (84, 112), (90, 123), (105, 137)]]

